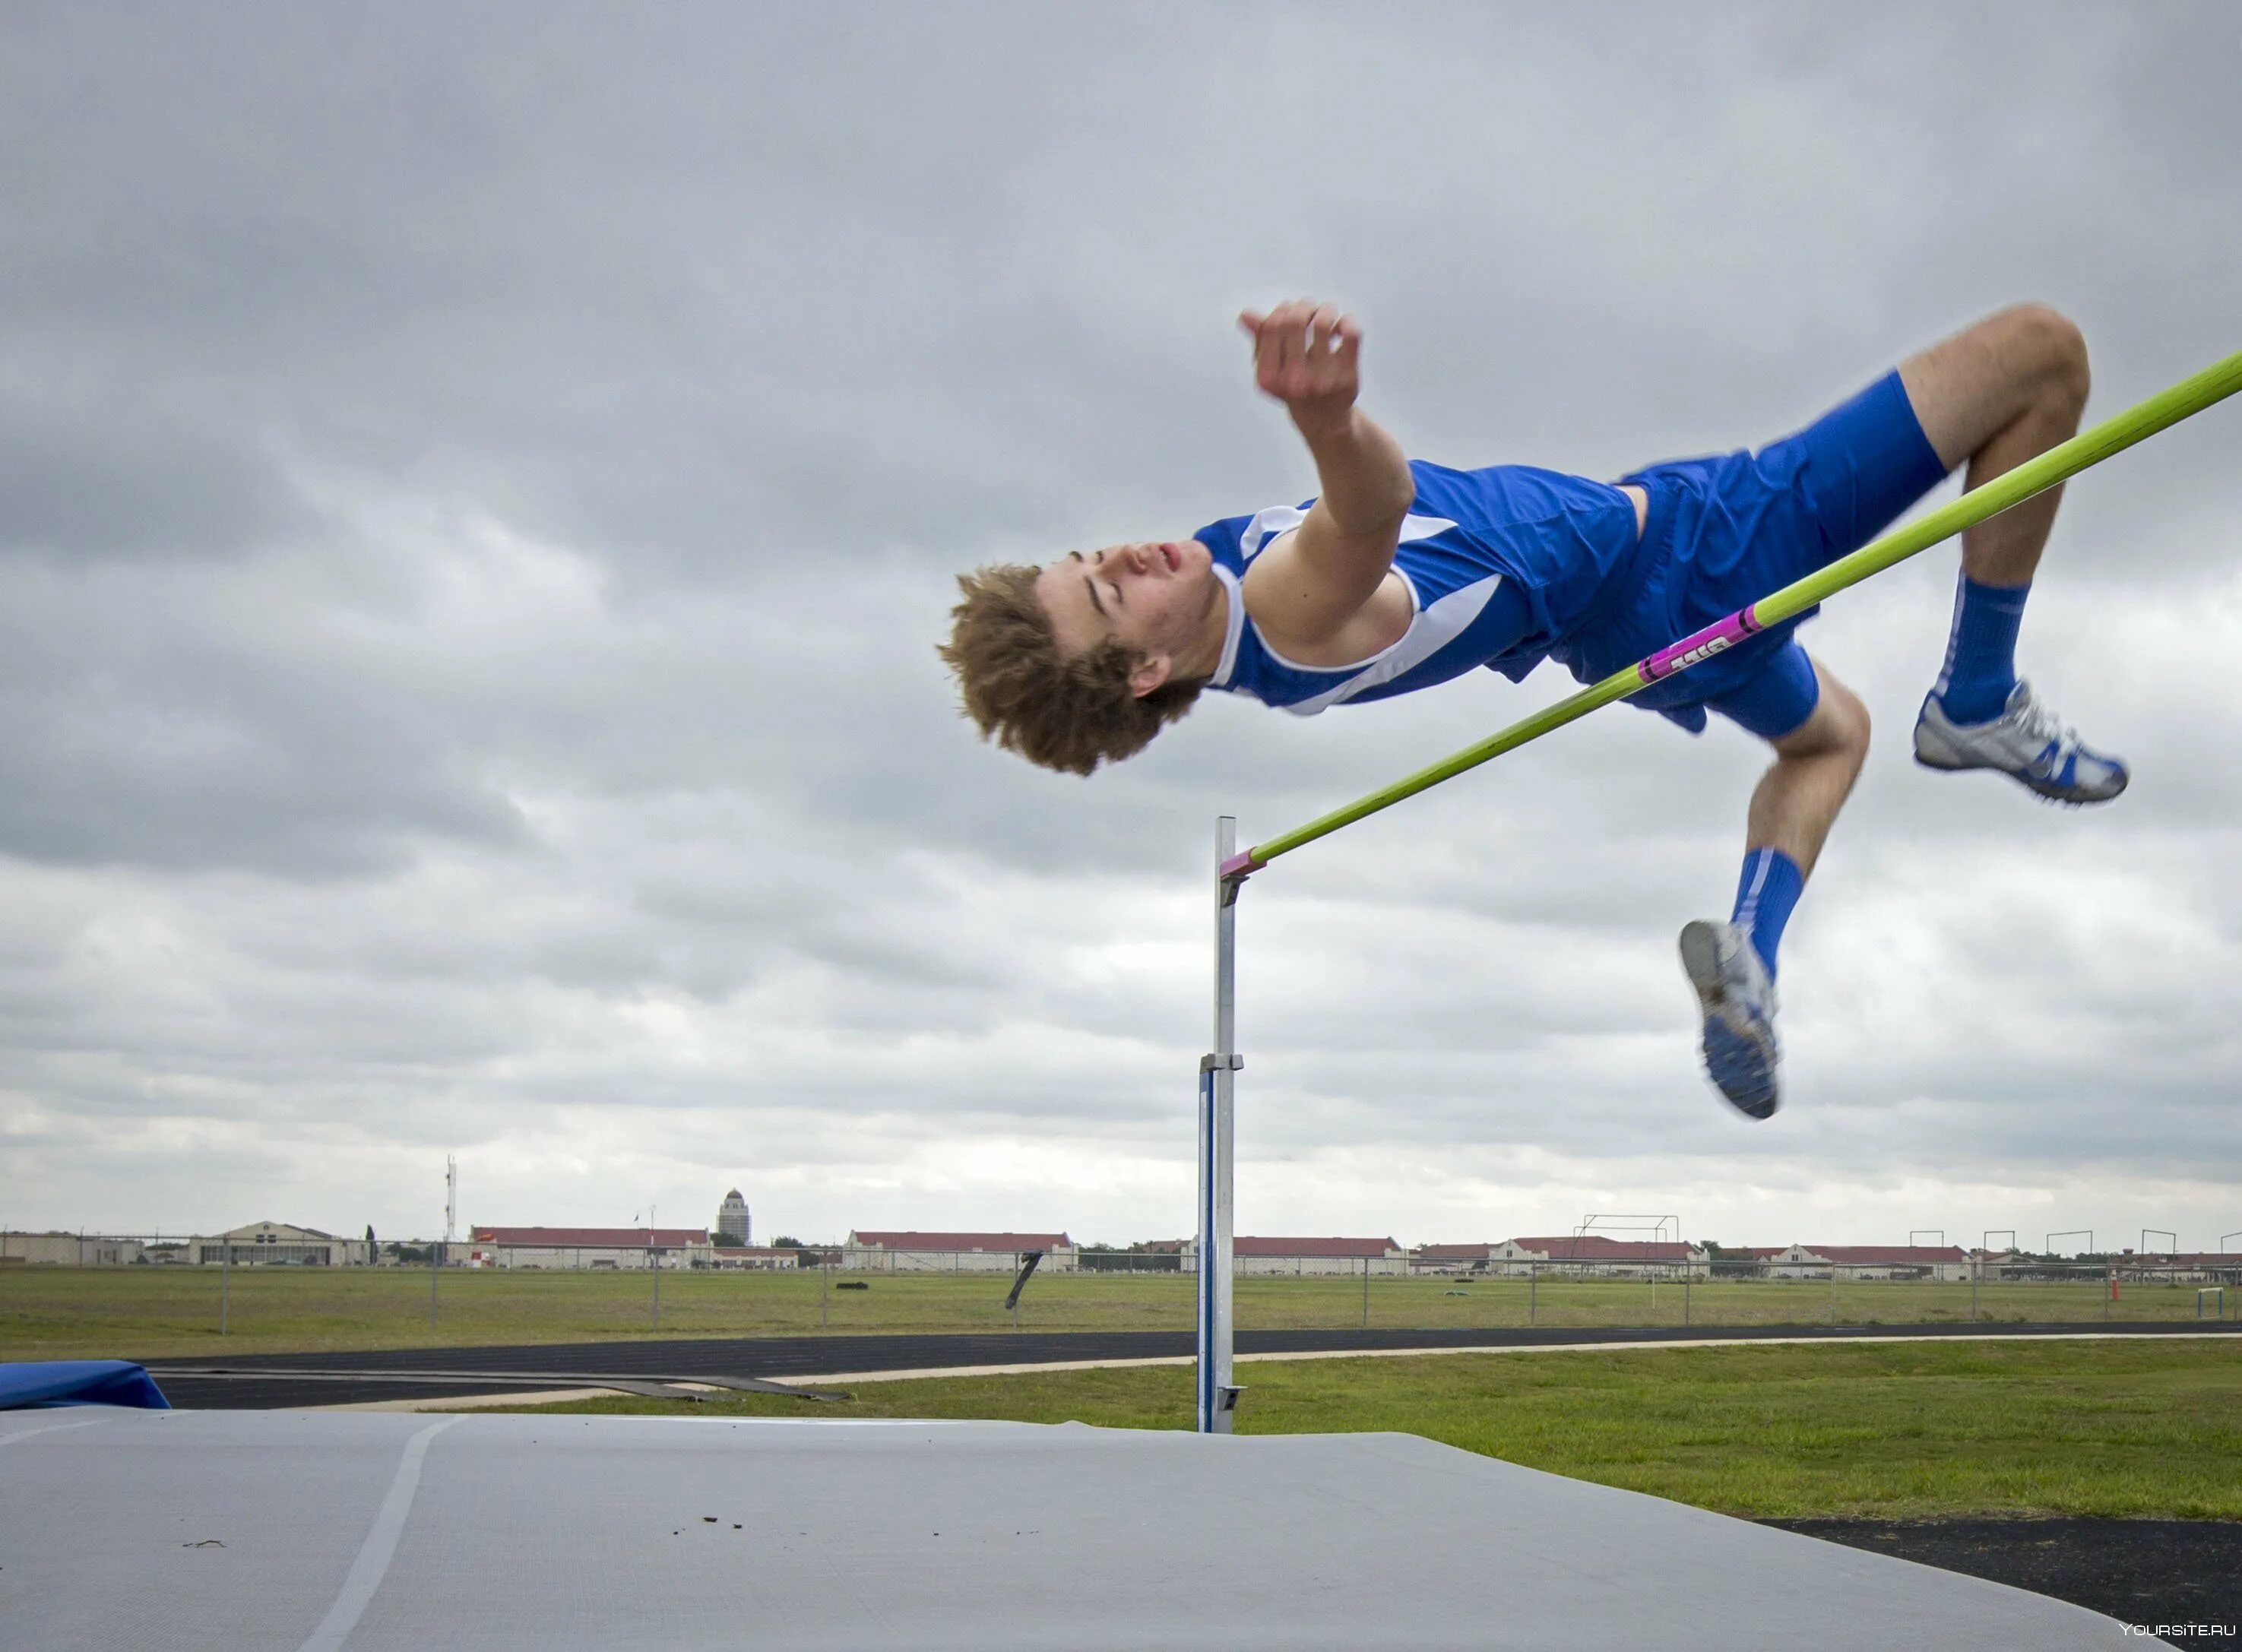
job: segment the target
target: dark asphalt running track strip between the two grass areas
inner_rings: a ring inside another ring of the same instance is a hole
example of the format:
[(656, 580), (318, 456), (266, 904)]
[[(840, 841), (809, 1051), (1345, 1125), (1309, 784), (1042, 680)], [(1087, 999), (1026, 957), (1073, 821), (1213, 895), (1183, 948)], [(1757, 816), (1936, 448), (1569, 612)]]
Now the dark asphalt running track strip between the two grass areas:
[[(2242, 1336), (2242, 1322), (2125, 1325), (1690, 1325), (1690, 1327), (1511, 1327), (1511, 1329), (1307, 1329), (1238, 1331), (1240, 1354), (1365, 1354), (1444, 1347), (1623, 1347), (1628, 1343), (1751, 1343), (1764, 1338), (1881, 1340), (1921, 1336)], [(368, 1401), (446, 1399), (475, 1392), (464, 1374), (502, 1388), (565, 1388), (617, 1376), (785, 1383), (803, 1376), (926, 1372), (982, 1365), (1119, 1363), (1188, 1358), (1193, 1331), (995, 1331), (904, 1336), (729, 1336), (700, 1340), (547, 1343), (529, 1347), (399, 1347), (321, 1354), (242, 1354), (143, 1361), (173, 1405), (191, 1410), (294, 1410)], [(206, 1376), (222, 1367), (224, 1376)], [(415, 1372), (442, 1379), (415, 1381)]]

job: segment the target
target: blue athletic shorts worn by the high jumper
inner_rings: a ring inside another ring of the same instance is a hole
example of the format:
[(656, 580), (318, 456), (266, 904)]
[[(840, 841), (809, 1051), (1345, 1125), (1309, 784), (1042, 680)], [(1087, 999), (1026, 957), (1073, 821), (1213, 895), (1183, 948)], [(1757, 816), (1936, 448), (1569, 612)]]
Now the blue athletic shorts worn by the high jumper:
[[(1758, 453), (1668, 460), (1621, 482), (1650, 495), (1634, 590), (1567, 639), (1581, 681), (1599, 681), (1856, 551), (1946, 480), (1897, 372)], [(1690, 733), (1713, 708), (1755, 735), (1785, 735), (1818, 697), (1791, 632), (1807, 610), (1632, 695)]]

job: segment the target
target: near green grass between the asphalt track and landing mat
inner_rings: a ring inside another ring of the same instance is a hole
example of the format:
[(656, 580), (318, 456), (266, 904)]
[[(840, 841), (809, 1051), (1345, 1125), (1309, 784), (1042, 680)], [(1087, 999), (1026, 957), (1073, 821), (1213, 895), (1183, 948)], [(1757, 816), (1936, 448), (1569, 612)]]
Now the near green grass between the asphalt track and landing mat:
[[(1426, 1435), (1735, 1515), (2242, 1520), (2242, 1343), (2229, 1338), (1430, 1354), (1238, 1374), (1240, 1432)], [(1184, 1428), (1191, 1372), (865, 1383), (816, 1408), (742, 1394), (543, 1410)]]

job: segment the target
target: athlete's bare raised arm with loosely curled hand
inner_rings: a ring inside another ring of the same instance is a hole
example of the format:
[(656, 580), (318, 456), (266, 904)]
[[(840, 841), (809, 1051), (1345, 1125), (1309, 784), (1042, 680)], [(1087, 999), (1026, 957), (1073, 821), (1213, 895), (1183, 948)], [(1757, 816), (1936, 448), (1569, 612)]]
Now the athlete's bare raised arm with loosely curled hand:
[(1262, 630), (1323, 643), (1383, 585), (1417, 480), (1401, 446), (1354, 406), (1363, 334), (1352, 316), (1296, 300), (1238, 323), (1253, 334), (1256, 381), (1291, 412), (1323, 484), (1307, 520), (1253, 560), (1249, 607)]

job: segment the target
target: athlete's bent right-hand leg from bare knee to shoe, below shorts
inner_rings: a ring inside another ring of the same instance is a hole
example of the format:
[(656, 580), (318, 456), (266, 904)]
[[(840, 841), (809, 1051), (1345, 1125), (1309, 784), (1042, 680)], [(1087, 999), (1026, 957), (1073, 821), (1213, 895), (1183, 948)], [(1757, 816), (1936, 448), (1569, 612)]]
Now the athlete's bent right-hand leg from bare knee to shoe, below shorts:
[[(2020, 305), (1899, 365), (1924, 437), (1980, 486), (2078, 433), (2087, 347), (2047, 305)], [(1998, 769), (2042, 798), (2107, 802), (2123, 760), (2085, 746), (2016, 677), (2016, 634), (2063, 489), (2049, 489), (1962, 536), (1946, 663), (1915, 724), (1915, 758), (1933, 769)]]

